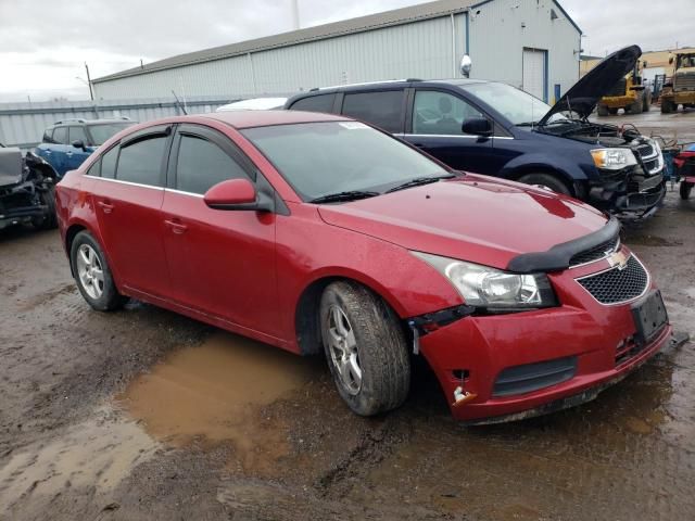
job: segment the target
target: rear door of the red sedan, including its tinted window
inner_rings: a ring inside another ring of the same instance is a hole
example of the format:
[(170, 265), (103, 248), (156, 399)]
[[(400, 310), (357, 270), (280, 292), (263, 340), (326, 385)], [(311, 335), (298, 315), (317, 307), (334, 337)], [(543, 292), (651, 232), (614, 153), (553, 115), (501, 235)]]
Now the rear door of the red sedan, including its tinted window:
[(122, 285), (163, 297), (169, 277), (162, 234), (170, 126), (150, 127), (101, 156), (92, 200), (106, 254)]

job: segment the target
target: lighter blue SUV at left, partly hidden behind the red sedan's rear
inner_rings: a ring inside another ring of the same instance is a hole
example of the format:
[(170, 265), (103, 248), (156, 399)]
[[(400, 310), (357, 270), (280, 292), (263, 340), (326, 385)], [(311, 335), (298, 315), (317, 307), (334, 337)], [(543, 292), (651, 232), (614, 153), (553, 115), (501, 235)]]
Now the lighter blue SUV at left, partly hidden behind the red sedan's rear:
[(43, 131), (37, 155), (55, 169), (59, 177), (74, 170), (114, 134), (135, 125), (128, 118), (118, 119), (63, 119)]

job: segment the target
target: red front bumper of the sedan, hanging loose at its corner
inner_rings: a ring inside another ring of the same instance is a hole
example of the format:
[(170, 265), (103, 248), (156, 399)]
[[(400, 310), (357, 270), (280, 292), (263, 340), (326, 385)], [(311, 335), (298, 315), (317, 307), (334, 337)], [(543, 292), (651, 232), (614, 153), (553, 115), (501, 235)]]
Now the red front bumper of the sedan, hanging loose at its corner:
[[(593, 399), (669, 342), (671, 326), (667, 323), (647, 344), (637, 346), (632, 307), (646, 296), (619, 305), (598, 304), (574, 280), (584, 275), (583, 268), (577, 268), (551, 276), (561, 307), (469, 316), (420, 338), (420, 351), (455, 419), (509, 421)], [(561, 359), (571, 359), (574, 369), (567, 378), (555, 380), (558, 383), (517, 394), (500, 392), (501, 376), (510, 368)], [(458, 387), (475, 397), (455, 405)]]

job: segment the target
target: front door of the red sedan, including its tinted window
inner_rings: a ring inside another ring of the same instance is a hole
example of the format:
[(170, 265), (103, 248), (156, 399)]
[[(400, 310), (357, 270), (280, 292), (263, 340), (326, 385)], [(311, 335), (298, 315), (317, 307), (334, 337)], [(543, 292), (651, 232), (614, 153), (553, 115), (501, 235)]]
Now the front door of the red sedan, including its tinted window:
[(203, 194), (255, 168), (226, 136), (181, 125), (164, 194), (164, 244), (172, 298), (207, 315), (279, 335), (271, 213), (210, 208)]

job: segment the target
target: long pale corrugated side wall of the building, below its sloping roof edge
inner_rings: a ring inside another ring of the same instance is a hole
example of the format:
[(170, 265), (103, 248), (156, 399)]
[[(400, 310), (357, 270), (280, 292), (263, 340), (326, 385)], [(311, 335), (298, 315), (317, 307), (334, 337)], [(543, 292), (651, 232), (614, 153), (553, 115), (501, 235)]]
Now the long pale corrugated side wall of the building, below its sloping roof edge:
[[(458, 76), (465, 15), (442, 16), (94, 84), (97, 98), (292, 93), (382, 79)], [(454, 29), (454, 34), (452, 34)]]

